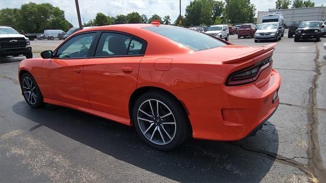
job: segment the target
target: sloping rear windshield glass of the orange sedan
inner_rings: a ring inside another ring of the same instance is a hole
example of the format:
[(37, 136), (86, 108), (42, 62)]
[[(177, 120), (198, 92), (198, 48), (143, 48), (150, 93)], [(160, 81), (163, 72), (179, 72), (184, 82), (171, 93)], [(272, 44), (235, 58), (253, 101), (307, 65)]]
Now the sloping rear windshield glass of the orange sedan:
[(195, 51), (217, 48), (226, 45), (218, 39), (204, 33), (178, 26), (148, 26), (144, 27), (144, 29), (165, 36)]

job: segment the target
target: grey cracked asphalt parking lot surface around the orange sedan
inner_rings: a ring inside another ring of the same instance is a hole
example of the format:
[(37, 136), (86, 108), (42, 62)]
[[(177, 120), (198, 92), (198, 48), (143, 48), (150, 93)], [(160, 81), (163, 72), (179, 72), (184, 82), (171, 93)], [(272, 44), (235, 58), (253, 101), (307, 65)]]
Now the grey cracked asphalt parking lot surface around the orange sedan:
[[(24, 57), (0, 58), (0, 182), (309, 182), (311, 172), (326, 181), (325, 41), (284, 35), (278, 42), (281, 104), (256, 136), (188, 140), (169, 152), (112, 121), (55, 105), (30, 108), (17, 79)], [(32, 41), (34, 56), (60, 42)]]

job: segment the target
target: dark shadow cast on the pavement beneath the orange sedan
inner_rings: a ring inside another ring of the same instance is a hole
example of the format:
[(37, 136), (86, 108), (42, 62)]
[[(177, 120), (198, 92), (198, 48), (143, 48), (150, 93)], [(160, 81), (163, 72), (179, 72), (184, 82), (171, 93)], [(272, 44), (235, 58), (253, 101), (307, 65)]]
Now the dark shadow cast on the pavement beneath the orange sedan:
[(180, 182), (259, 182), (274, 159), (254, 153), (251, 146), (267, 148), (272, 154), (278, 151), (277, 130), (268, 121), (256, 137), (238, 142), (191, 139), (173, 151), (162, 152), (149, 148), (132, 127), (73, 109), (49, 104), (33, 109), (25, 101), (12, 109), (38, 123), (30, 131), (45, 126), (118, 160)]

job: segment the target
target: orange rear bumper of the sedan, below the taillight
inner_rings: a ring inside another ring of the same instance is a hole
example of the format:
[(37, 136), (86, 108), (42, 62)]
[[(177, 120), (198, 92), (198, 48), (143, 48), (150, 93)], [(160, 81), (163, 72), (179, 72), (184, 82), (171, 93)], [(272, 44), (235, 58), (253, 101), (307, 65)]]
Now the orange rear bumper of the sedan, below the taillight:
[(234, 141), (251, 135), (273, 115), (279, 105), (279, 98), (273, 98), (280, 85), (280, 75), (272, 70), (269, 80), (260, 87), (220, 84), (175, 95), (189, 112), (194, 138)]

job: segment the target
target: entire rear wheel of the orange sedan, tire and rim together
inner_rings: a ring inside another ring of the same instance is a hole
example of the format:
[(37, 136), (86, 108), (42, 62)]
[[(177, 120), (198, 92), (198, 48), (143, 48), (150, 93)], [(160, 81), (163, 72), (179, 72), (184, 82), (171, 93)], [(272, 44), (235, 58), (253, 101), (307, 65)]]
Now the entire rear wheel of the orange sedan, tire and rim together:
[(172, 150), (189, 136), (189, 121), (183, 106), (165, 92), (141, 95), (133, 107), (132, 119), (141, 139), (158, 150)]

